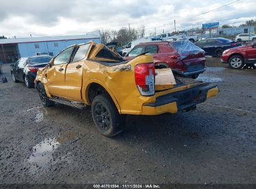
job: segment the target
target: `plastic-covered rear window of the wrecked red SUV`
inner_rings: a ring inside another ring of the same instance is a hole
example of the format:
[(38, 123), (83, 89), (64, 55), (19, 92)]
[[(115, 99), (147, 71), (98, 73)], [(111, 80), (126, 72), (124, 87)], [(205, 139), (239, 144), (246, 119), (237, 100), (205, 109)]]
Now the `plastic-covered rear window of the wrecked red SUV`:
[(202, 48), (199, 48), (196, 45), (192, 44), (189, 40), (170, 42), (170, 45), (181, 53), (191, 51), (204, 51), (202, 50)]

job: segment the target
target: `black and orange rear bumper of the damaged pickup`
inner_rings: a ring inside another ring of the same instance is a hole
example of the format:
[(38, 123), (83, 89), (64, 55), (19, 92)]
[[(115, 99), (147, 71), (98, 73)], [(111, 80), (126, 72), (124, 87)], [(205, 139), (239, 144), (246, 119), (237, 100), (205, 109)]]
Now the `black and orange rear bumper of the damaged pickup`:
[(217, 96), (219, 89), (217, 85), (205, 84), (165, 94), (156, 98), (155, 103), (144, 104), (144, 115), (158, 115), (163, 113), (177, 113), (186, 109), (192, 109), (196, 104), (203, 103), (212, 96)]

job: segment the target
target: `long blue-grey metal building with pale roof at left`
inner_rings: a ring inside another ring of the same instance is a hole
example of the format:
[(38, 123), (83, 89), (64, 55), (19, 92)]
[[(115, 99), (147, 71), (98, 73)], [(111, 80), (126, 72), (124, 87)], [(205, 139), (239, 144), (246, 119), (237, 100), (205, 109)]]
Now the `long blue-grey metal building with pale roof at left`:
[(70, 45), (82, 44), (90, 40), (100, 43), (100, 30), (88, 32), (86, 35), (0, 39), (0, 62), (16, 62), (18, 58), (31, 57), (37, 52), (55, 56)]

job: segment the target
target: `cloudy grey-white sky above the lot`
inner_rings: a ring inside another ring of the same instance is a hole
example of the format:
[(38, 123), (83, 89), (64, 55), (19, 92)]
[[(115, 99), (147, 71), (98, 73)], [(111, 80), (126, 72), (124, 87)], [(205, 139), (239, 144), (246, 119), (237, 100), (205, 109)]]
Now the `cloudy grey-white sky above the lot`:
[[(202, 23), (239, 25), (256, 19), (255, 0), (1, 0), (0, 35), (42, 37), (86, 34), (92, 30), (138, 28), (146, 34), (201, 27)], [(216, 11), (217, 7), (224, 6)], [(207, 14), (203, 12), (211, 11)], [(196, 17), (193, 17), (196, 16)], [(193, 17), (192, 19), (187, 19)], [(186, 19), (185, 21), (183, 21)]]

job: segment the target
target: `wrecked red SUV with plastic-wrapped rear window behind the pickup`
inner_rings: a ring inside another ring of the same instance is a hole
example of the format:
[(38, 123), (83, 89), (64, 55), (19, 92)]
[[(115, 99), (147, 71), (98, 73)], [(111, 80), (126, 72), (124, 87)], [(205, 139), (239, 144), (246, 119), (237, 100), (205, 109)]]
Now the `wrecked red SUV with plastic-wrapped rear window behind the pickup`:
[(152, 54), (154, 63), (159, 67), (178, 69), (192, 78), (197, 78), (206, 70), (204, 50), (188, 40), (141, 43), (133, 47), (124, 58), (130, 60), (143, 52)]

